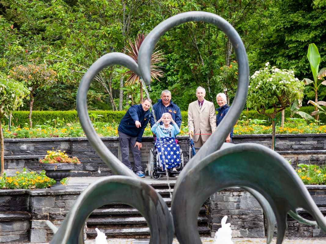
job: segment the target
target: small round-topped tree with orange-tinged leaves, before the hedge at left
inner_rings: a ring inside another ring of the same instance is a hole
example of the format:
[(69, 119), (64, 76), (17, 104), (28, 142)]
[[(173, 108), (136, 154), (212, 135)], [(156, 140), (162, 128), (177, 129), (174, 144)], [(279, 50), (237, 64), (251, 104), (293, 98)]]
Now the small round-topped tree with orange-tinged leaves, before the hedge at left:
[(34, 98), (46, 93), (58, 81), (57, 73), (45, 64), (27, 66), (15, 66), (9, 71), (9, 77), (22, 82), (29, 90), (29, 126), (32, 127), (32, 111)]

